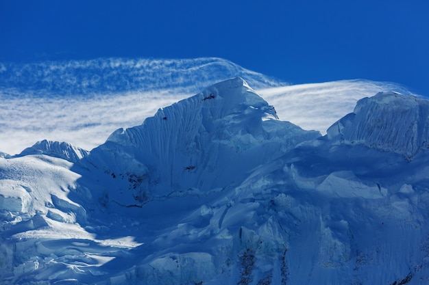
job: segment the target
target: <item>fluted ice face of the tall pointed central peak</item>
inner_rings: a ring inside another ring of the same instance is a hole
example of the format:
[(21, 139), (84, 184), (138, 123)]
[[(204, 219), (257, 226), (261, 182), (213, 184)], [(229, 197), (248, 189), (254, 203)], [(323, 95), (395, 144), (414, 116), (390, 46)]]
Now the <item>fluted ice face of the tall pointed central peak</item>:
[(144, 202), (177, 191), (222, 189), (319, 136), (278, 120), (274, 108), (236, 78), (160, 109), (140, 126), (115, 131), (88, 161), (111, 176), (127, 176), (134, 197)]

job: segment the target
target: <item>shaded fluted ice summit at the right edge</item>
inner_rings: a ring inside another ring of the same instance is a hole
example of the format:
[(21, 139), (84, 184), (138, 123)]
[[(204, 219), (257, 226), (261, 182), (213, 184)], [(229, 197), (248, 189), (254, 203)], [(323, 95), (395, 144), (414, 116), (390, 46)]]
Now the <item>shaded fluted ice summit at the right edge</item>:
[(412, 159), (429, 148), (429, 102), (398, 93), (378, 93), (358, 101), (354, 112), (328, 129), (341, 144), (364, 144)]

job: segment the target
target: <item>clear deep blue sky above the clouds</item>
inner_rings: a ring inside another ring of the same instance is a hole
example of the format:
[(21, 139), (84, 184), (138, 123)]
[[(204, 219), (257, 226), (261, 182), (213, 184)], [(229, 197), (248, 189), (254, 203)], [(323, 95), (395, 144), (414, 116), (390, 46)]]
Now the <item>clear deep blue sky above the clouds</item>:
[(428, 0), (0, 0), (0, 62), (223, 57), (291, 83), (429, 95)]

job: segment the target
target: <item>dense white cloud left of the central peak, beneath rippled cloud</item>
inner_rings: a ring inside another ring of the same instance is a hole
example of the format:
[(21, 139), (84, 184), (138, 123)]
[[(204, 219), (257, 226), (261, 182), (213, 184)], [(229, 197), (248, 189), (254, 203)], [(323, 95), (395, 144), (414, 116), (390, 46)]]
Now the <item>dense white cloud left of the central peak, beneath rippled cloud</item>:
[(0, 95), (0, 151), (21, 152), (36, 141), (67, 141), (90, 150), (114, 130), (142, 124), (160, 107), (188, 94), (163, 92), (57, 98), (5, 98)]

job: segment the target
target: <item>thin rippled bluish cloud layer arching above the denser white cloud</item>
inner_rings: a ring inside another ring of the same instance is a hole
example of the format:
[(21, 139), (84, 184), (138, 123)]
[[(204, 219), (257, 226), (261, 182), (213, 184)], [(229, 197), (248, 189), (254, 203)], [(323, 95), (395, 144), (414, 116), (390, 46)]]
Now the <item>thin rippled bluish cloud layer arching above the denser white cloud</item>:
[(99, 58), (29, 64), (0, 63), (2, 92), (79, 95), (175, 89), (195, 94), (232, 77), (254, 88), (288, 85), (217, 57), (197, 59)]

